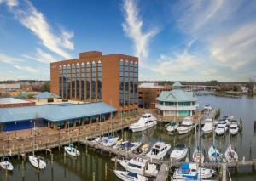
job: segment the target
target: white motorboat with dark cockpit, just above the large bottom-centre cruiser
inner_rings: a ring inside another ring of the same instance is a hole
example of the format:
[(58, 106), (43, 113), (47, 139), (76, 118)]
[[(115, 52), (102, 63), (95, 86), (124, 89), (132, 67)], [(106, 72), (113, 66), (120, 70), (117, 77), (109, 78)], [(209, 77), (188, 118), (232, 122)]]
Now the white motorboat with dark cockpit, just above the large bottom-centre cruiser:
[(146, 154), (148, 158), (154, 158), (158, 160), (162, 160), (168, 150), (171, 149), (170, 144), (165, 144), (164, 142), (156, 142), (151, 150)]

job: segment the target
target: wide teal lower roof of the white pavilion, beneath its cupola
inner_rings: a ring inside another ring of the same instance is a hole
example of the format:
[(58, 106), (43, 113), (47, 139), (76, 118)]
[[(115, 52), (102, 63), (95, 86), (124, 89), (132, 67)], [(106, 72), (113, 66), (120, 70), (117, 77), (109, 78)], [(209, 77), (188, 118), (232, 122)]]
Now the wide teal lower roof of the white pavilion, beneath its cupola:
[(197, 99), (193, 92), (187, 92), (183, 89), (173, 89), (172, 91), (162, 91), (157, 100), (165, 102), (189, 102), (196, 101)]

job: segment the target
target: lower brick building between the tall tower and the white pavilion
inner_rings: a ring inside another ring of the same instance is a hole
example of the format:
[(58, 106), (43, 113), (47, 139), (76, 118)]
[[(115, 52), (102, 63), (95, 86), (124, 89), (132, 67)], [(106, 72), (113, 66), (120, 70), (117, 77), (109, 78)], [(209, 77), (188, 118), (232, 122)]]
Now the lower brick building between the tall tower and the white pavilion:
[(171, 87), (160, 86), (153, 82), (143, 82), (138, 86), (139, 107), (154, 109), (156, 98), (162, 91), (171, 91)]

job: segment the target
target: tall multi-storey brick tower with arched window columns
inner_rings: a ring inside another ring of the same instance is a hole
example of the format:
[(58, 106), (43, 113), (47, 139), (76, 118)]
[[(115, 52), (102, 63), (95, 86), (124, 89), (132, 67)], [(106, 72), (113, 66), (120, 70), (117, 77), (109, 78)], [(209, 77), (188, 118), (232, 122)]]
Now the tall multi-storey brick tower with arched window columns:
[(91, 51), (50, 64), (51, 93), (62, 99), (102, 101), (119, 116), (137, 114), (138, 58)]

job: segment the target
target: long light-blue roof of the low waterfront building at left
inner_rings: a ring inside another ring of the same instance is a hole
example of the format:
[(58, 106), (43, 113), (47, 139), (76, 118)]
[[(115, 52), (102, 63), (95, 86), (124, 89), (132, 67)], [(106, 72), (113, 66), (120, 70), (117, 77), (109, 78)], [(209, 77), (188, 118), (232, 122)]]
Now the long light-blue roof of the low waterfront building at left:
[(85, 116), (96, 116), (116, 112), (106, 103), (79, 105), (34, 105), (26, 107), (0, 108), (0, 122), (19, 122), (43, 118), (50, 122), (61, 122)]

